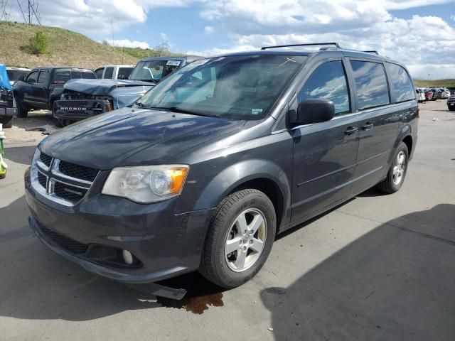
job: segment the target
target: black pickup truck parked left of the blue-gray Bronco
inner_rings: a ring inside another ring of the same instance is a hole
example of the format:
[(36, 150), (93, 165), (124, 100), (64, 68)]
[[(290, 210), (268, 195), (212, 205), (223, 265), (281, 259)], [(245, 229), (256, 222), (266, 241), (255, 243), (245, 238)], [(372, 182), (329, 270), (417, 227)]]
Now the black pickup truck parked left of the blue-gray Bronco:
[(53, 110), (53, 104), (60, 99), (63, 85), (77, 78), (95, 79), (92, 70), (78, 67), (36, 67), (14, 83), (17, 117), (27, 117), (30, 109)]

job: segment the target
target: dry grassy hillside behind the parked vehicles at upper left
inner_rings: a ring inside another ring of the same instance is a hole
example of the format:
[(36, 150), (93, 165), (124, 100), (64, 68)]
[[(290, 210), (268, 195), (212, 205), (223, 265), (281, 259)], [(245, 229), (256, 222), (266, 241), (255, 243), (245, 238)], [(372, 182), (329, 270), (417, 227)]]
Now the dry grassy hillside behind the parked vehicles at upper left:
[[(43, 31), (48, 37), (48, 53), (44, 55), (27, 52), (28, 40), (36, 31)], [(149, 56), (176, 55), (166, 50), (112, 47), (80, 33), (48, 26), (0, 21), (0, 32), (0, 63), (11, 66), (69, 65), (94, 70), (107, 64), (135, 65), (139, 59)]]

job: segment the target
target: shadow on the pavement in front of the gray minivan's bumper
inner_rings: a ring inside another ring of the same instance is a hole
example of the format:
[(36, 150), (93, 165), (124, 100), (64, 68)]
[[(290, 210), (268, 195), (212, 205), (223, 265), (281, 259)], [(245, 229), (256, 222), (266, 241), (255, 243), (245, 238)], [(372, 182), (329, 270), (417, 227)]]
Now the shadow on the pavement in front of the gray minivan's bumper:
[(223, 305), (223, 289), (198, 273), (158, 282), (186, 289), (181, 301), (146, 293), (146, 285), (136, 289), (92, 275), (41, 244), (27, 217), (23, 195), (0, 207), (1, 316), (82, 321), (162, 306), (200, 314), (210, 305)]

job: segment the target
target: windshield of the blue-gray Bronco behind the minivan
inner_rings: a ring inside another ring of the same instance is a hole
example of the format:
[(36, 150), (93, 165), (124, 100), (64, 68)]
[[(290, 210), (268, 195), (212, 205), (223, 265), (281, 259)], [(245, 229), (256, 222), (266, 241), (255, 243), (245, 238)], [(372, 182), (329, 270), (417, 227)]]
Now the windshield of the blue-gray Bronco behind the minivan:
[[(142, 80), (144, 82), (159, 82), (161, 78), (174, 72), (181, 64), (181, 60), (144, 60), (137, 63), (129, 75), (130, 80)], [(106, 77), (106, 76), (105, 76)]]

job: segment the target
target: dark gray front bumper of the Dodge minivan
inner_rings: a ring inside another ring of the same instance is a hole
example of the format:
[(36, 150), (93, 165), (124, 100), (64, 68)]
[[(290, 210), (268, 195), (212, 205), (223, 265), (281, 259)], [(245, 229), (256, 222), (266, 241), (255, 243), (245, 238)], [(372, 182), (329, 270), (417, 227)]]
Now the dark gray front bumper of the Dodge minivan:
[[(25, 183), (29, 222), (39, 239), (93, 274), (124, 283), (149, 283), (195, 271), (200, 265), (213, 210), (176, 215), (178, 198), (141, 205), (90, 193), (77, 205), (65, 207), (34, 190), (29, 170)], [(123, 249), (139, 262), (128, 266), (112, 260), (111, 251)]]

